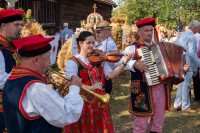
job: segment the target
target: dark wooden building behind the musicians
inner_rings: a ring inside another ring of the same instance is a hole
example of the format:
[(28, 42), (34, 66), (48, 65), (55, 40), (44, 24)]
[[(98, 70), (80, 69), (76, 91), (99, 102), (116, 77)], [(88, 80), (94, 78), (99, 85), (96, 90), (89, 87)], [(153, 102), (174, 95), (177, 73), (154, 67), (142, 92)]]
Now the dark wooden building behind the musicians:
[[(5, 0), (1, 1), (0, 6), (5, 6)], [(31, 9), (33, 18), (43, 25), (48, 34), (54, 34), (56, 28), (62, 27), (65, 22), (72, 29), (80, 27), (80, 21), (86, 20), (93, 12), (94, 4), (104, 20), (111, 18), (112, 9), (117, 6), (112, 0), (18, 0), (15, 8)]]

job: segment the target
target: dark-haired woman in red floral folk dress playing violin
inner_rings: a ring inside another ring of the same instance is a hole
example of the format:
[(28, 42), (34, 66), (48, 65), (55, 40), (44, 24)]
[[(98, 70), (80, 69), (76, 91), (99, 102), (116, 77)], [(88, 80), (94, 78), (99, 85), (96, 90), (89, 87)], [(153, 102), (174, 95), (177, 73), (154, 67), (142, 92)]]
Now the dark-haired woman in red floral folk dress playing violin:
[[(132, 54), (127, 54), (123, 63), (114, 70), (106, 62), (102, 63), (102, 65), (92, 65), (87, 56), (93, 51), (94, 44), (95, 38), (91, 32), (83, 31), (80, 33), (77, 38), (80, 53), (68, 60), (65, 66), (66, 77), (70, 78), (72, 75), (78, 75), (82, 78), (84, 88), (104, 95), (105, 77), (112, 79), (120, 74)], [(85, 102), (79, 121), (66, 126), (64, 133), (113, 133), (114, 129), (110, 116), (110, 105), (106, 104), (102, 108), (98, 103), (97, 100), (92, 103)]]

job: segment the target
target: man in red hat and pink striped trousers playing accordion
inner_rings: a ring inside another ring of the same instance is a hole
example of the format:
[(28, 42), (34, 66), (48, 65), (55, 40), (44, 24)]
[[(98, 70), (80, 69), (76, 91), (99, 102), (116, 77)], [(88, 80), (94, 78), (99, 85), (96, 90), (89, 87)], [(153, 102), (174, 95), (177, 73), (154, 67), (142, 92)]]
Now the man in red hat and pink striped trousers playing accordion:
[[(139, 49), (152, 46), (152, 35), (155, 32), (155, 18), (144, 18), (136, 22), (140, 39), (133, 45), (127, 47), (123, 53), (134, 52)], [(157, 45), (157, 44), (155, 44)], [(169, 110), (169, 86), (163, 82), (149, 86), (144, 72), (149, 71), (149, 67), (142, 60), (132, 63), (131, 70), (131, 103), (129, 112), (136, 115), (133, 124), (133, 133), (145, 133), (148, 119), (150, 118), (150, 132), (161, 133), (165, 118), (165, 110)], [(128, 66), (131, 64), (128, 63)], [(188, 70), (185, 65), (185, 70)]]

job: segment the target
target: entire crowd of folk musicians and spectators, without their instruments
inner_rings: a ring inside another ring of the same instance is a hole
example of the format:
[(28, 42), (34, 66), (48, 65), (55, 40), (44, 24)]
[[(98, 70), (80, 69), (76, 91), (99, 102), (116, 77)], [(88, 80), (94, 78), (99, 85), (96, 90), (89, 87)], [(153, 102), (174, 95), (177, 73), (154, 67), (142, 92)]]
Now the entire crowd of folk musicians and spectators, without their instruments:
[[(42, 35), (20, 37), (23, 26), (23, 12), (16, 9), (0, 11), (0, 133), (114, 133), (109, 103), (100, 106), (94, 95), (85, 94), (85, 88), (98, 95), (112, 92), (112, 79), (125, 67), (131, 73), (130, 108), (135, 115), (133, 133), (145, 133), (150, 119), (150, 132), (163, 132), (165, 110), (170, 108), (170, 84), (160, 82), (149, 86), (145, 72), (149, 66), (138, 55), (138, 50), (157, 45), (152, 39), (156, 19), (143, 18), (135, 22), (137, 34), (132, 33), (133, 41), (122, 52), (125, 56), (118, 62), (102, 60), (92, 64), (88, 58), (95, 51), (116, 51), (117, 46), (111, 37), (108, 21), (99, 21), (95, 33), (82, 31), (78, 38), (78, 54), (72, 56), (65, 66), (68, 93), (61, 95), (47, 84), (44, 74), (50, 64), (49, 44), (54, 38)], [(69, 39), (73, 32), (68, 23), (60, 36), (60, 45)], [(160, 30), (160, 41), (171, 42), (185, 49), (184, 81), (179, 84), (174, 108), (178, 111), (194, 113), (190, 106), (190, 90), (193, 78), (195, 101), (200, 101), (200, 22), (191, 20), (188, 29), (178, 27), (172, 38), (167, 31)], [(135, 40), (134, 40), (135, 39)], [(173, 45), (173, 44), (172, 44)], [(99, 53), (98, 53), (99, 54)], [(62, 87), (61, 85), (60, 87)], [(82, 98), (85, 95), (88, 100)]]

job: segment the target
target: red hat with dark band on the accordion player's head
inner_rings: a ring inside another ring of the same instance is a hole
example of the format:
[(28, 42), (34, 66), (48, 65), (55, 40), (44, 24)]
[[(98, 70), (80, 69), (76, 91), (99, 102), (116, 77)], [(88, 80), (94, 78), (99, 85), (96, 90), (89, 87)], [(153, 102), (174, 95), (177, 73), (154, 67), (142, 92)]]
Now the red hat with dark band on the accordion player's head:
[(152, 25), (153, 27), (155, 27), (156, 25), (155, 21), (156, 21), (156, 18), (144, 18), (144, 19), (136, 21), (135, 24), (138, 28), (145, 25)]

